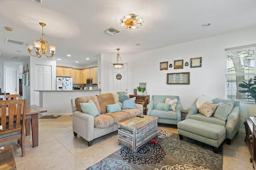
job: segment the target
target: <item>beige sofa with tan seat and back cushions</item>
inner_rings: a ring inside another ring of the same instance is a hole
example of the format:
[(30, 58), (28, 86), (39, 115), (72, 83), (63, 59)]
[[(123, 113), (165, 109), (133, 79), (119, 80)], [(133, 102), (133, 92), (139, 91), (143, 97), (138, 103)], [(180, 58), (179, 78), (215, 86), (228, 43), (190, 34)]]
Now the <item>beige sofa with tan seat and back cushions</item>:
[[(95, 103), (100, 115), (94, 117), (82, 112), (80, 103), (87, 103), (89, 100)], [(119, 102), (117, 93), (82, 96), (71, 99), (74, 136), (80, 135), (88, 142), (88, 146), (91, 146), (93, 139), (117, 131), (117, 121), (143, 113), (143, 106), (141, 104), (135, 104), (135, 109), (122, 109), (122, 111), (107, 113), (106, 106), (116, 103), (120, 104), (122, 108), (122, 103)]]

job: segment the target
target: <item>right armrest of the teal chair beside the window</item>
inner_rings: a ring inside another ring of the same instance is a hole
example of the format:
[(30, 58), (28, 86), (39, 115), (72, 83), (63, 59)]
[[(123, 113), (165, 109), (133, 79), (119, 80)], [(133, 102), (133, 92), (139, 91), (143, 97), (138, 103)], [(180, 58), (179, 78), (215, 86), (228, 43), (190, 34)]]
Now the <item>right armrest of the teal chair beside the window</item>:
[(240, 106), (234, 106), (226, 121), (226, 138), (232, 139), (240, 128)]

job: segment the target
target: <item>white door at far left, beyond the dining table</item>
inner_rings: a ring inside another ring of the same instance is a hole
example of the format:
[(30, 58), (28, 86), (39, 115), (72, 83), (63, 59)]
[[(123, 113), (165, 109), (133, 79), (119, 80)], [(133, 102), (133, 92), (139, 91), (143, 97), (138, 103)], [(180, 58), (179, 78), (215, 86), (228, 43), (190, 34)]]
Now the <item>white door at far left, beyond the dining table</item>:
[[(10, 94), (17, 93), (17, 82), (16, 82), (16, 70), (6, 68), (5, 69), (5, 92)], [(3, 93), (3, 92), (2, 92)]]

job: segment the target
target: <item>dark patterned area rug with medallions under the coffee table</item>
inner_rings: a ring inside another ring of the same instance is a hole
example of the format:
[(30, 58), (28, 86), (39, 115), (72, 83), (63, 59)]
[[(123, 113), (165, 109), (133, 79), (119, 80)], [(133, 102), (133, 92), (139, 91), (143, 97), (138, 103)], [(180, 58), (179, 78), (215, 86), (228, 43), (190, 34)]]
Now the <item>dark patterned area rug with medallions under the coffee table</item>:
[(122, 147), (86, 170), (222, 170), (222, 146), (215, 154), (210, 145), (163, 130), (156, 141), (138, 152)]

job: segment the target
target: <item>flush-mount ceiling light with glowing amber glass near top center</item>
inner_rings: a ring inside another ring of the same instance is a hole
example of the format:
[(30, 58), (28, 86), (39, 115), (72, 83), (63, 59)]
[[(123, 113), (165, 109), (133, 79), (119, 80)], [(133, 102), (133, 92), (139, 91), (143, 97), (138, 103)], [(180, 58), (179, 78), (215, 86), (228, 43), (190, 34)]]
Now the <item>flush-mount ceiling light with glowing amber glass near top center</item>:
[(121, 18), (120, 24), (126, 29), (137, 29), (142, 26), (143, 22), (144, 21), (142, 20), (141, 16), (128, 14)]

